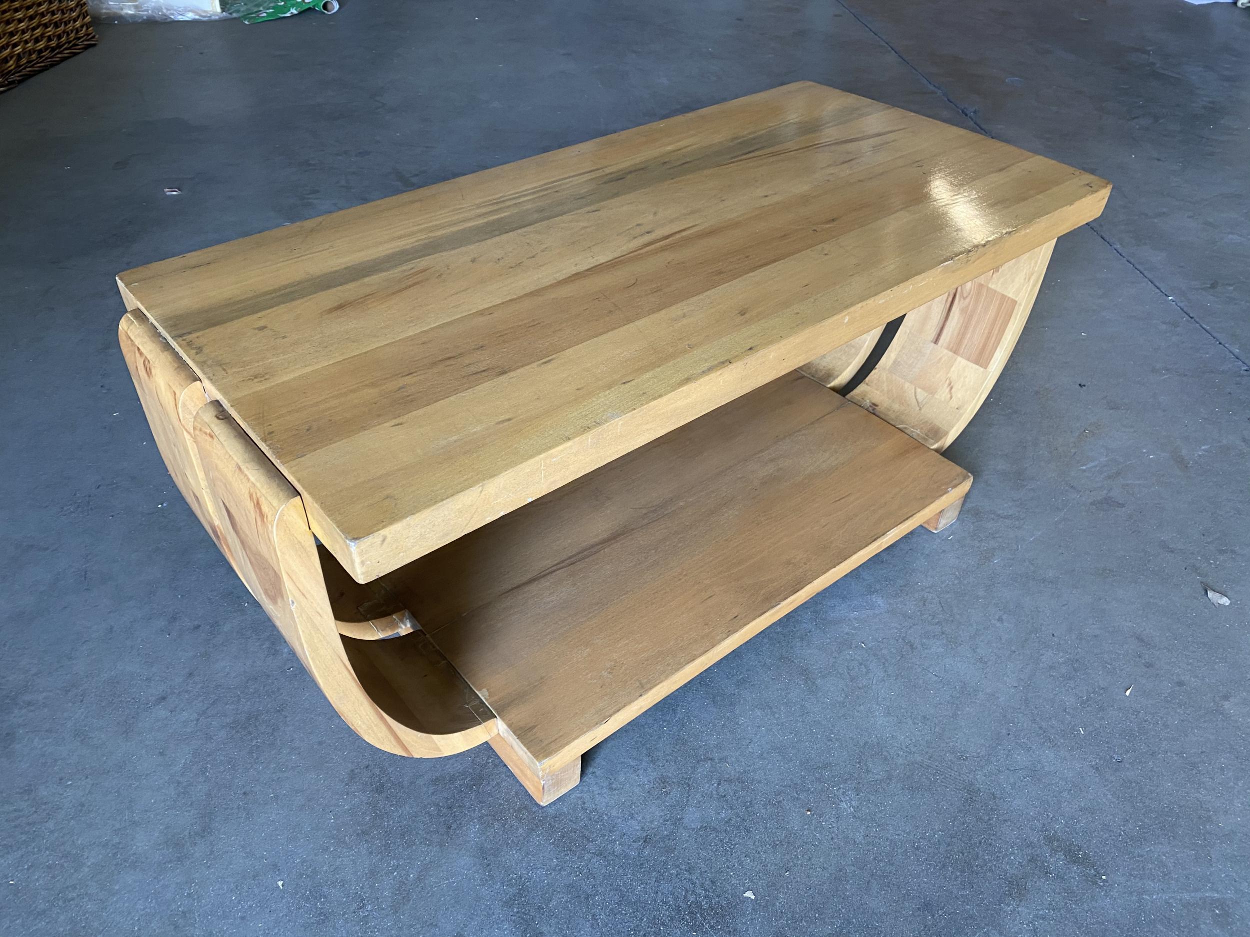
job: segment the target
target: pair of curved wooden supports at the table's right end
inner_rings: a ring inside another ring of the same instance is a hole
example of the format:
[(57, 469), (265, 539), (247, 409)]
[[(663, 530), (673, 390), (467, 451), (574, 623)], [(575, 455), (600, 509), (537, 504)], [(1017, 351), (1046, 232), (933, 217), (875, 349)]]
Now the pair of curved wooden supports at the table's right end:
[[(1046, 272), (1050, 241), (910, 312), (876, 367), (848, 399), (939, 452), (962, 432), (1015, 349)], [(800, 369), (839, 390), (878, 332)]]

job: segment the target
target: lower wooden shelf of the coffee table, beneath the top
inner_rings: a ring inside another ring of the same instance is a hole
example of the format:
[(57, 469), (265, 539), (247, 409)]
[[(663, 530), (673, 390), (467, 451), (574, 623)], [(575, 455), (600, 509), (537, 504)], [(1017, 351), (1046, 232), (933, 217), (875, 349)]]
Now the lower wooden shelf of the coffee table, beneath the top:
[(795, 372), (382, 585), (559, 771), (970, 483)]

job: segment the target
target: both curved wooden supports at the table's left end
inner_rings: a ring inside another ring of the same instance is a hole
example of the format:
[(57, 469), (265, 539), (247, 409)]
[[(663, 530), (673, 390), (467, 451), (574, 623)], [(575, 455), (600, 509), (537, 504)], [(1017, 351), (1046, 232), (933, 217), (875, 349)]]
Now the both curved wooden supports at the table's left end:
[[(328, 587), (299, 493), (221, 405), (205, 400), (152, 325), (128, 314), (119, 332), (175, 483), (342, 720), (396, 755), (452, 755), (490, 740), (494, 713), (410, 616), (376, 593), (369, 605), (359, 591)], [(360, 640), (342, 628), (395, 636)]]

